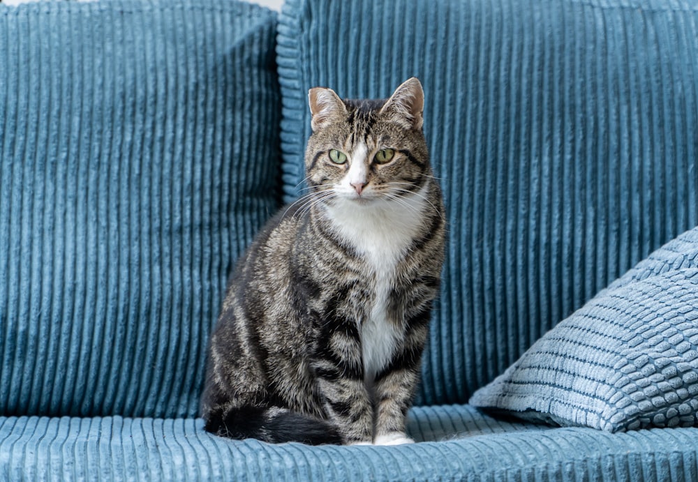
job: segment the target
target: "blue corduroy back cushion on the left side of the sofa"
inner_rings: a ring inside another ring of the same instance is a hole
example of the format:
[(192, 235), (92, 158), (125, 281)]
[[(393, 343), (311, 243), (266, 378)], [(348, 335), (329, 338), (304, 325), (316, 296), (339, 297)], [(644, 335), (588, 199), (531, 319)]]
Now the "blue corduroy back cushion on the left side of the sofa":
[(237, 1), (0, 4), (1, 414), (198, 413), (278, 206), (275, 27)]

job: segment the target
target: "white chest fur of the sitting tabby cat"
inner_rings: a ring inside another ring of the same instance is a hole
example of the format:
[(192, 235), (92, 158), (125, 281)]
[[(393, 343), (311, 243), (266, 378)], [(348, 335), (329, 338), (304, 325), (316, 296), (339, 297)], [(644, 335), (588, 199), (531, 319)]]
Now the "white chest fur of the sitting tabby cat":
[(343, 201), (328, 209), (339, 233), (364, 256), (375, 280), (375, 298), (369, 319), (361, 327), (362, 355), (367, 381), (383, 370), (403, 338), (403, 327), (388, 319), (388, 301), (395, 268), (406, 255), (423, 223), (424, 193), (360, 205)]

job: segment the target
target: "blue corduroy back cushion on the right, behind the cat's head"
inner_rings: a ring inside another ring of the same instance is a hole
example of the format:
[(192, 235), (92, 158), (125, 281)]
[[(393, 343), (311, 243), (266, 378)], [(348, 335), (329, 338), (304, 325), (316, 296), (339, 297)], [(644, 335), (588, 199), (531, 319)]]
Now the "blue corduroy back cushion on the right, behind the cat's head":
[(309, 87), (424, 84), (450, 243), (419, 402), (467, 400), (698, 224), (693, 1), (288, 0), (279, 22), (287, 199)]

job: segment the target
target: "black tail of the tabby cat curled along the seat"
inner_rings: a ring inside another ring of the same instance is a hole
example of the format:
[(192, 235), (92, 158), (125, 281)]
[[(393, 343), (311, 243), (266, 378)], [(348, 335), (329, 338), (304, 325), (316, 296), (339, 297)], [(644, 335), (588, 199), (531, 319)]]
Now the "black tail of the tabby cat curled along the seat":
[(211, 412), (205, 418), (204, 429), (220, 437), (258, 439), (270, 444), (342, 443), (339, 432), (329, 422), (284, 408), (242, 407), (224, 413)]

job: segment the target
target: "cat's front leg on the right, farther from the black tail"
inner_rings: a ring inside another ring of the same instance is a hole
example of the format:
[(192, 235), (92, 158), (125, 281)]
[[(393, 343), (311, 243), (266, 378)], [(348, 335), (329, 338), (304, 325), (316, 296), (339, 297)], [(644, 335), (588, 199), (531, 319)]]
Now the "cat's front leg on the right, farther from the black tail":
[(419, 363), (429, 324), (429, 310), (420, 310), (406, 322), (405, 340), (387, 368), (373, 382), (376, 400), (376, 445), (410, 444), (405, 419), (419, 382)]

